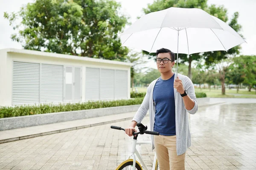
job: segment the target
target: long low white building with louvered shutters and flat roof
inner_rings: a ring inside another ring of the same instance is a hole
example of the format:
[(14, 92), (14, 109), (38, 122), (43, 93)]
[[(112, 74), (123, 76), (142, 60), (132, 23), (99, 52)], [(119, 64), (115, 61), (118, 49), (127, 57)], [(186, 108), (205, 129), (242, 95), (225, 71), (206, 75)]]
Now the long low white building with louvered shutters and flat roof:
[(0, 106), (130, 98), (131, 63), (0, 50)]

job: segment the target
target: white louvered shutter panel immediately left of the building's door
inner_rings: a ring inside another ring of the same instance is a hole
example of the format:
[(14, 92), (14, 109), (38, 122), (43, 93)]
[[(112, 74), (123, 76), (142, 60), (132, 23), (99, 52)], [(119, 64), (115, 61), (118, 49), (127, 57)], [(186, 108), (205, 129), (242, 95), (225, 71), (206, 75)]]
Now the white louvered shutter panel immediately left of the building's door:
[(41, 65), (41, 103), (63, 102), (63, 65)]

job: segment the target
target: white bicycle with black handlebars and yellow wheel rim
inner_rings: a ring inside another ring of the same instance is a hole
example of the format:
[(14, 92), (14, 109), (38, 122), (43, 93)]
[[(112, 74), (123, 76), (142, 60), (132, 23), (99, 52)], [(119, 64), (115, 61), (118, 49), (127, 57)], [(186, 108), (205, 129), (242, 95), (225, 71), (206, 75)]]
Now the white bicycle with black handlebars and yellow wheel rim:
[[(151, 135), (159, 135), (159, 132), (154, 132), (154, 131), (147, 131), (148, 127), (144, 126), (142, 123), (138, 123), (137, 127), (139, 129), (139, 132), (133, 132), (133, 140), (132, 140), (132, 147), (131, 147), (131, 154), (128, 156), (128, 158), (123, 161), (119, 166), (116, 168), (116, 170), (148, 170), (148, 167), (146, 166), (145, 162), (143, 161), (140, 153), (136, 149), (137, 144), (151, 144), (151, 142), (137, 142), (137, 137), (139, 134), (143, 135), (144, 133), (146, 134), (151, 134)], [(116, 130), (124, 130), (122, 127), (118, 126), (111, 126), (112, 129)], [(136, 161), (136, 156), (140, 160), (141, 164), (138, 161)], [(132, 159), (130, 159), (132, 157)], [(158, 163), (157, 163), (157, 156), (156, 153), (154, 154), (154, 161), (153, 161), (153, 166), (152, 170), (157, 170), (158, 169)]]

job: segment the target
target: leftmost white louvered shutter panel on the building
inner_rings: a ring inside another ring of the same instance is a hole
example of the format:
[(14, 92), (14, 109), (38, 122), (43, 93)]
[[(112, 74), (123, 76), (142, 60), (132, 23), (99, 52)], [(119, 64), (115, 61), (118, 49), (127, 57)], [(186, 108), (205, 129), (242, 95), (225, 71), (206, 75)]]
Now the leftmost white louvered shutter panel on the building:
[(12, 76), (12, 105), (39, 103), (40, 64), (13, 62)]

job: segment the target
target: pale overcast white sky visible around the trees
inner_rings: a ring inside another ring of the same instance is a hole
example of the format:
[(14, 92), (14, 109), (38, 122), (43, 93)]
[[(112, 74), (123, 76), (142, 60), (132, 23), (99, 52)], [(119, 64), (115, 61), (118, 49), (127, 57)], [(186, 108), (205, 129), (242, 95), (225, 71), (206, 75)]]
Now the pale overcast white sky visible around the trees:
[[(130, 17), (130, 22), (134, 23), (137, 17), (143, 15), (143, 8), (151, 4), (154, 0), (116, 0), (121, 3), (121, 12)], [(31, 3), (33, 0), (0, 0), (0, 49), (18, 48), (22, 49), (18, 42), (11, 40), (11, 34), (15, 33), (9, 21), (3, 17), (3, 13), (19, 11), (22, 5)], [(208, 0), (208, 4), (224, 5), (231, 18), (234, 12), (239, 12), (238, 23), (242, 26), (241, 34), (247, 43), (241, 45), (241, 54), (256, 55), (256, 0)], [(151, 68), (155, 67), (154, 61), (148, 61)]]

